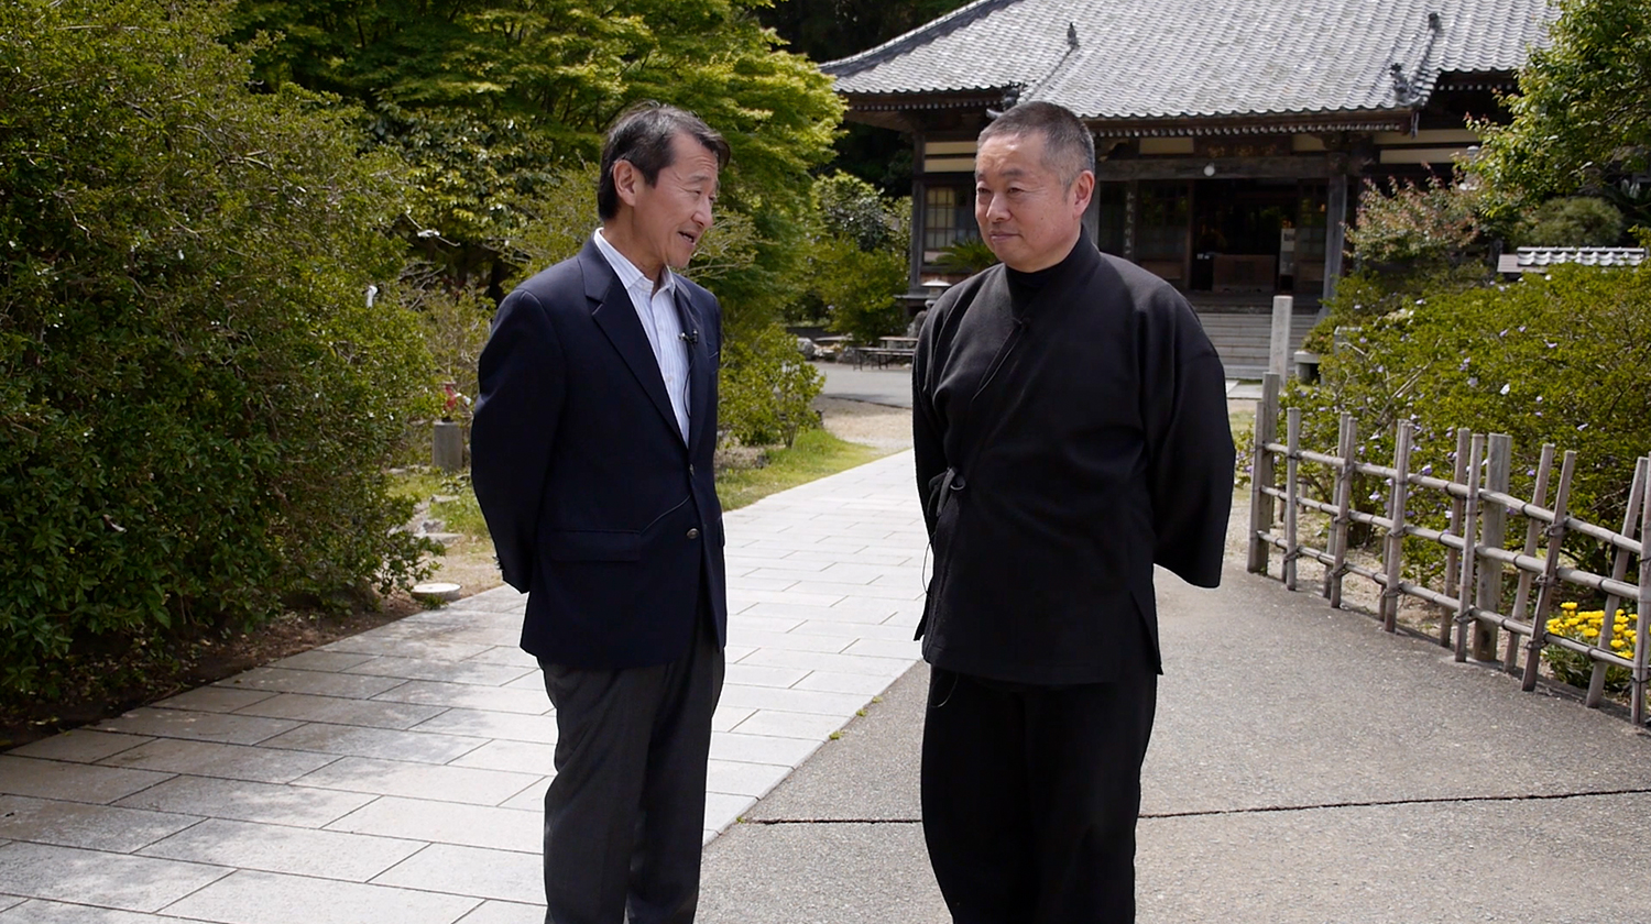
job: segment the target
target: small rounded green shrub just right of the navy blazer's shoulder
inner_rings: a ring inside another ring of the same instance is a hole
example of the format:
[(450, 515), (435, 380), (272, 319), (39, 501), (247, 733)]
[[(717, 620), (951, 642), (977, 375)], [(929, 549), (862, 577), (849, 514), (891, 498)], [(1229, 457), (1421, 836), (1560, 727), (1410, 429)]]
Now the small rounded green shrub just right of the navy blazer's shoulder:
[(801, 429), (814, 424), (809, 403), (821, 393), (822, 378), (783, 328), (728, 338), (721, 361), (718, 422), (725, 441), (791, 446)]

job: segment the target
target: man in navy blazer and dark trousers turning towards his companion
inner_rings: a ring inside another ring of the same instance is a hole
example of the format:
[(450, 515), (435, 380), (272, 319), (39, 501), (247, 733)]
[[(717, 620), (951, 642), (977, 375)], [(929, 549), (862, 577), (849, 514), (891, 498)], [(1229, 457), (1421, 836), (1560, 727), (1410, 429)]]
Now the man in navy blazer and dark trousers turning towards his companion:
[(726, 640), (712, 455), (721, 310), (672, 272), (728, 144), (644, 104), (603, 150), (601, 228), (499, 305), (471, 431), (522, 647), (556, 708), (548, 924), (687, 924)]

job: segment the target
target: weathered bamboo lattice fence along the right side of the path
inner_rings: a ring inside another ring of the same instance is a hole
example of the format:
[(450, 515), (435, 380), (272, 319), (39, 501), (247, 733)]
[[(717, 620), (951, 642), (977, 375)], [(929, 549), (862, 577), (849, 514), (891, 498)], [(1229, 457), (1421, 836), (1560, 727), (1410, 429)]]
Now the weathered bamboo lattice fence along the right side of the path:
[[(1341, 434), (1334, 454), (1313, 452), (1301, 447), (1301, 411), (1291, 408), (1284, 422), (1284, 442), (1278, 442), (1280, 376), (1268, 375), (1256, 404), (1253, 482), (1250, 493), (1250, 561), (1256, 574), (1270, 573), (1271, 549), (1283, 551), (1283, 582), (1298, 587), (1298, 563), (1313, 559), (1324, 564), (1321, 592), (1332, 607), (1342, 607), (1342, 584), (1349, 574), (1365, 578), (1380, 587), (1377, 619), (1382, 629), (1398, 627), (1400, 597), (1415, 597), (1441, 607), (1438, 644), (1455, 647), (1458, 662), (1473, 657), (1478, 662), (1494, 662), (1509, 673), (1522, 676), (1522, 688), (1537, 685), (1542, 648), (1557, 645), (1575, 652), (1592, 663), (1587, 705), (1598, 706), (1605, 695), (1605, 675), (1611, 667), (1630, 672), (1630, 710), (1634, 724), (1646, 723), (1646, 693), (1651, 680), (1651, 568), (1646, 563), (1644, 536), (1651, 535), (1651, 457), (1641, 457), (1634, 465), (1634, 480), (1628, 497), (1628, 510), (1621, 531), (1577, 520), (1567, 513), (1577, 454), (1565, 452), (1559, 460), (1559, 482), (1554, 483), (1555, 449), (1542, 447), (1542, 460), (1535, 470), (1532, 498), (1512, 497), (1509, 469), (1512, 441), (1502, 434), (1473, 434), (1466, 429), (1456, 434), (1456, 465), (1451, 478), (1435, 478), (1412, 472), (1412, 424), (1398, 422), (1397, 447), (1392, 465), (1359, 462), (1355, 459), (1359, 434), (1351, 414), (1341, 416)], [(1308, 497), (1303, 490), (1301, 464), (1319, 464), (1336, 474), (1329, 500)], [(1283, 469), (1283, 472), (1280, 472)], [(1278, 483), (1283, 474), (1283, 485)], [(1387, 482), (1387, 510), (1384, 515), (1360, 512), (1352, 502), (1357, 475), (1370, 475)], [(1552, 505), (1549, 493), (1552, 488)], [(1407, 521), (1412, 497), (1417, 492), (1443, 492), (1450, 498), (1448, 525), (1430, 530)], [(1283, 512), (1276, 512), (1276, 505)], [(1317, 512), (1329, 518), (1324, 536), (1326, 548), (1313, 548), (1303, 541), (1301, 512)], [(1522, 544), (1511, 543), (1509, 520), (1522, 518)], [(1382, 536), (1380, 568), (1364, 568), (1349, 561), (1347, 536), (1354, 523), (1379, 531)], [(1639, 538), (1636, 540), (1634, 535)], [(1415, 536), (1436, 543), (1445, 551), (1443, 587), (1428, 587), (1405, 579), (1405, 538)], [(1568, 536), (1585, 536), (1601, 543), (1611, 558), (1611, 574), (1593, 574), (1570, 564), (1562, 551)], [(1636, 584), (1626, 582), (1630, 564)], [(1507, 581), (1517, 579), (1509, 612), (1501, 612)], [(1575, 586), (1605, 594), (1605, 620), (1598, 637), (1578, 640), (1547, 630), (1550, 617), (1560, 614), (1559, 599), (1563, 586)], [(1623, 602), (1638, 604), (1634, 644), (1631, 657), (1613, 650), (1616, 639), (1613, 614)], [(1497, 652), (1497, 635), (1506, 634), (1506, 647)], [(1521, 657), (1524, 655), (1524, 657)]]

